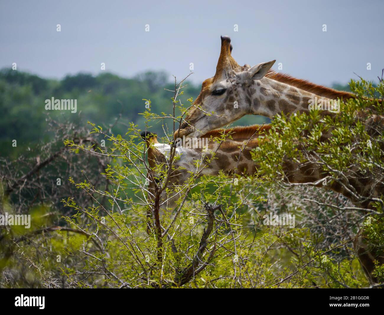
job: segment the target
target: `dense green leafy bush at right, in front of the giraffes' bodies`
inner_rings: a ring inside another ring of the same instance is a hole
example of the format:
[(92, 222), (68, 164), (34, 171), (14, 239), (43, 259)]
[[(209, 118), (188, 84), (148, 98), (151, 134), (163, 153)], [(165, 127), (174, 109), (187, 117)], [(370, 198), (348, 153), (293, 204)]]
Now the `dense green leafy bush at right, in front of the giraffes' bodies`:
[[(377, 255), (380, 253), (382, 255), (384, 249), (382, 237), (384, 235), (382, 190), (384, 128), (380, 117), (384, 114), (382, 103), (384, 84), (380, 82), (379, 85), (374, 86), (371, 82), (364, 80), (357, 82), (351, 80), (350, 87), (356, 94), (356, 98), (341, 102), (339, 113), (323, 115), (321, 111), (313, 110), (308, 115), (303, 113), (295, 114), (290, 118), (284, 115), (275, 117), (270, 134), (252, 154), (253, 159), (258, 162), (260, 173), (265, 174), (269, 179), (266, 184), (274, 188), (281, 185), (290, 186), (282, 182), (286, 179), (287, 163), (299, 169), (306, 163), (315, 161), (316, 165), (320, 166), (326, 181), (316, 183), (316, 180), (307, 180), (312, 183), (306, 185), (319, 187), (326, 185), (336, 191), (345, 189), (347, 193), (351, 192), (351, 198), (360, 206), (354, 208), (349, 204), (343, 209), (346, 212), (348, 209), (357, 211), (356, 220), (360, 222), (370, 248)], [(372, 185), (372, 188), (356, 190), (356, 185), (359, 183), (362, 183), (363, 188), (366, 185)], [(327, 205), (331, 208), (327, 208)], [(339, 206), (329, 202), (323, 203), (320, 209), (324, 213), (331, 214), (332, 207)], [(372, 214), (374, 215), (369, 217), (369, 224), (362, 224), (364, 219)], [(351, 223), (345, 224), (346, 228), (349, 228)], [(356, 232), (354, 225), (351, 224), (351, 228)], [(319, 241), (321, 242), (321, 239), (307, 240), (308, 248), (313, 250)], [(310, 253), (310, 257), (314, 255), (317, 254)], [(319, 258), (316, 259), (319, 260)], [(335, 281), (334, 287), (339, 287), (337, 283), (343, 283), (343, 286), (348, 287), (361, 285), (356, 281), (356, 270), (353, 270), (352, 262), (352, 260), (338, 261), (335, 264), (334, 260), (330, 259), (327, 264), (322, 265), (329, 273), (329, 277)], [(353, 276), (354, 273), (355, 276)], [(377, 263), (374, 273), (382, 281), (382, 265)]]

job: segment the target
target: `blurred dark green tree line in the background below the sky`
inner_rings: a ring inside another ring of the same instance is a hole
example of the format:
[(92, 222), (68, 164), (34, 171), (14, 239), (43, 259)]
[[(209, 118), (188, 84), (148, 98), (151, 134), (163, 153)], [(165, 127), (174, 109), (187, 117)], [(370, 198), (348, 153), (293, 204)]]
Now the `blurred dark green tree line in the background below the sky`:
[[(170, 82), (168, 77), (165, 72), (144, 72), (133, 78), (122, 78), (113, 73), (102, 73), (96, 77), (78, 73), (53, 80), (4, 68), (0, 70), (0, 155), (17, 157), (37, 142), (50, 140), (51, 135), (46, 132), (47, 115), (59, 122), (69, 120), (78, 126), (86, 125), (88, 120), (99, 125), (113, 125), (121, 115), (112, 132), (122, 135), (126, 133), (129, 122), (144, 128), (145, 119), (139, 115), (146, 110), (143, 98), (151, 100), (151, 111), (154, 113), (172, 112), (173, 93), (166, 89), (174, 90), (174, 82)], [(184, 95), (180, 96), (184, 104), (188, 104), (190, 97), (195, 99), (201, 88), (199, 84), (186, 84)], [(45, 110), (45, 100), (52, 97), (76, 99), (77, 112)], [(255, 120), (255, 117), (247, 116), (235, 125), (264, 121), (264, 117)], [(152, 130), (163, 133), (162, 123), (159, 120)], [(172, 128), (171, 120), (164, 123)], [(17, 140), (16, 148), (12, 147), (12, 140)]]

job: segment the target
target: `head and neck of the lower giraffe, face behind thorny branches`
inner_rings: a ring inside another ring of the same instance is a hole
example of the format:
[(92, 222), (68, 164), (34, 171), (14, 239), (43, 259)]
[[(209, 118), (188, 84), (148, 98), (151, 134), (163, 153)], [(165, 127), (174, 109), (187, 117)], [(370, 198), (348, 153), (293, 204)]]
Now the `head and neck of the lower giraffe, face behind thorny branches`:
[[(258, 145), (259, 138), (265, 135), (270, 129), (270, 125), (254, 125), (252, 127), (235, 127), (227, 130), (218, 130), (227, 137), (231, 135), (231, 141), (215, 142), (210, 140), (219, 134), (215, 132), (204, 135), (206, 141), (205, 147), (176, 147), (176, 154), (179, 159), (174, 160), (173, 170), (170, 175), (168, 187), (172, 191), (171, 197), (165, 198), (163, 193), (161, 208), (163, 210), (173, 209), (174, 203), (183, 197), (183, 183), (185, 183), (191, 173), (194, 173), (196, 179), (201, 176), (216, 176), (220, 171), (227, 175), (242, 174), (252, 175), (256, 172), (255, 162), (252, 160), (250, 151)], [(146, 140), (148, 164), (151, 172), (148, 174), (149, 194), (155, 195), (156, 187), (161, 185), (161, 176), (157, 168), (161, 165), (164, 169), (170, 167), (169, 155), (171, 146), (166, 143), (159, 143), (154, 133), (142, 132), (141, 137)], [(244, 146), (244, 143), (250, 141), (244, 148), (239, 157), (238, 147)], [(230, 154), (231, 153), (231, 154)], [(230, 156), (228, 156), (230, 154)], [(215, 157), (212, 160), (213, 156)], [(196, 165), (199, 163), (199, 166)]]

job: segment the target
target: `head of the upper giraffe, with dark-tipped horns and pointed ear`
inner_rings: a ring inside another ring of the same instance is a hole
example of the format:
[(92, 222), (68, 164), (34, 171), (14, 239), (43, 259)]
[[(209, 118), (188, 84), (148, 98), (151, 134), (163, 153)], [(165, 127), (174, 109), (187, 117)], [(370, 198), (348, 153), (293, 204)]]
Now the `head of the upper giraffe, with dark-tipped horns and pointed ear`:
[[(214, 77), (205, 80), (199, 96), (174, 138), (200, 137), (212, 129), (222, 127), (247, 114), (253, 114), (251, 85), (263, 78), (275, 60), (254, 67), (239, 66), (233, 59), (231, 40), (221, 37), (221, 51)], [(255, 100), (253, 100), (255, 102)]]

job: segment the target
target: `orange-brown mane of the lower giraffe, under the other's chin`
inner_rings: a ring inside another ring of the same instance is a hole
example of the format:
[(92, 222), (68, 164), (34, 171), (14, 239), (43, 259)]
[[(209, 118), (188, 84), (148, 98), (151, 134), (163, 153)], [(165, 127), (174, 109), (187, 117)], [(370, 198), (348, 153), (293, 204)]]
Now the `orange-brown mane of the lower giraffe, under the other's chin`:
[(252, 125), (252, 126), (237, 126), (228, 129), (214, 129), (205, 133), (201, 138), (221, 137), (223, 134), (230, 133), (232, 140), (248, 140), (250, 138), (257, 138), (260, 134), (265, 134), (271, 129), (271, 125)]

